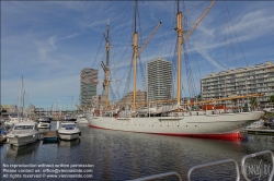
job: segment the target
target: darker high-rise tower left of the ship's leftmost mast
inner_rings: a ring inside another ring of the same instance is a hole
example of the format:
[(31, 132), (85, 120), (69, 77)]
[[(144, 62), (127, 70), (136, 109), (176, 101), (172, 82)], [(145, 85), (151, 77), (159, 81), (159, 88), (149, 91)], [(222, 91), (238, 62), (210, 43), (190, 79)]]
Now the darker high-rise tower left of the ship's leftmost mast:
[(81, 107), (89, 107), (93, 96), (98, 94), (98, 70), (85, 68), (81, 71), (80, 102)]

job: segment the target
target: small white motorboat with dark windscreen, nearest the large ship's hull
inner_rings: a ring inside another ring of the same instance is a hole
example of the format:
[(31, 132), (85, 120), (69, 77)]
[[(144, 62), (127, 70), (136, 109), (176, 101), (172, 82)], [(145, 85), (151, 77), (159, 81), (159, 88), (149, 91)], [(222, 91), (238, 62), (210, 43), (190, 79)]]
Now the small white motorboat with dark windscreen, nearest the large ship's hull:
[(71, 141), (79, 138), (81, 135), (81, 131), (77, 128), (76, 123), (73, 122), (61, 122), (58, 131), (58, 137), (65, 141)]

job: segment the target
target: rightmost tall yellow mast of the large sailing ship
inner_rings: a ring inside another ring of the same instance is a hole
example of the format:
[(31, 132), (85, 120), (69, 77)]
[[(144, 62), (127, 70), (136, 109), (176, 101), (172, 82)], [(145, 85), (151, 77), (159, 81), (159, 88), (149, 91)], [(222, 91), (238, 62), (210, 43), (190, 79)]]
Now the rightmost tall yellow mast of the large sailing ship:
[[(176, 33), (178, 33), (178, 84), (176, 84), (176, 102), (178, 108), (181, 101), (181, 62), (182, 62), (182, 12), (180, 12), (179, 0), (178, 0), (178, 13), (176, 13)], [(179, 110), (179, 109), (178, 109)]]

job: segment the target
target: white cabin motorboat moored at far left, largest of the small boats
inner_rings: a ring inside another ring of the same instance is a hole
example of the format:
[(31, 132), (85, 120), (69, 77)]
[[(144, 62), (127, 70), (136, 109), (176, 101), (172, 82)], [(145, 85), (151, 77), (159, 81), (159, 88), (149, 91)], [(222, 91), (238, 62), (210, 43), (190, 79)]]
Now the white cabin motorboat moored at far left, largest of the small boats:
[(23, 146), (38, 141), (37, 123), (24, 121), (14, 124), (12, 131), (7, 134), (9, 143), (14, 146)]

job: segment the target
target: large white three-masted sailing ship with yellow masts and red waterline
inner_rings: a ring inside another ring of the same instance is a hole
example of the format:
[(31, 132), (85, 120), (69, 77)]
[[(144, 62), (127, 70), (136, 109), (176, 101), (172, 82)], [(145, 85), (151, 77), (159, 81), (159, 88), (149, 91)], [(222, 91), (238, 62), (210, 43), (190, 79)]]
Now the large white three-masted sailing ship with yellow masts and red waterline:
[[(137, 3), (137, 2), (135, 2)], [(160, 134), (160, 135), (174, 135), (174, 136), (191, 136), (191, 137), (205, 137), (205, 138), (221, 138), (221, 140), (235, 140), (241, 138), (239, 130), (244, 128), (258, 120), (263, 116), (263, 111), (249, 111), (249, 112), (227, 112), (226, 108), (220, 108), (218, 110), (185, 110), (185, 107), (190, 106), (193, 102), (181, 104), (181, 57), (182, 57), (182, 45), (195, 29), (198, 23), (203, 20), (206, 13), (210, 10), (215, 0), (207, 8), (204, 14), (199, 17), (195, 26), (190, 31), (187, 36), (183, 37), (182, 28), (182, 12), (179, 11), (178, 3), (178, 13), (176, 13), (176, 27), (178, 33), (178, 97), (175, 102), (171, 102), (169, 106), (164, 106), (161, 110), (165, 110), (164, 116), (160, 117), (150, 117), (150, 113), (155, 110), (149, 106), (147, 108), (137, 109), (136, 108), (136, 61), (137, 57), (140, 55), (142, 48), (138, 49), (138, 32), (136, 31), (136, 20), (135, 20), (135, 33), (134, 33), (134, 89), (133, 89), (133, 105), (132, 110), (100, 110), (93, 111), (91, 113), (85, 113), (85, 117), (89, 121), (89, 126), (95, 129), (106, 129), (106, 130), (116, 130), (116, 131), (127, 131), (135, 133), (150, 133), (150, 134)], [(136, 17), (136, 11), (135, 11)], [(109, 24), (107, 24), (107, 35), (109, 35)], [(110, 43), (109, 37), (105, 38), (106, 41), (106, 55), (109, 55)], [(106, 56), (109, 58), (109, 56)], [(107, 88), (110, 84), (110, 71), (109, 71), (109, 59), (106, 60), (106, 65), (102, 65), (105, 72), (104, 87)], [(261, 96), (247, 95), (247, 97)], [(236, 96), (235, 99), (240, 99), (243, 97)], [(233, 99), (233, 97), (230, 99)], [(105, 108), (107, 108), (107, 89), (105, 90)], [(219, 100), (207, 100), (201, 102), (194, 102), (195, 105), (206, 105), (209, 102), (224, 101), (225, 99)], [(148, 104), (147, 104), (148, 105)], [(107, 113), (106, 113), (107, 112)], [(110, 113), (111, 112), (111, 113)], [(145, 113), (141, 113), (145, 112)]]

